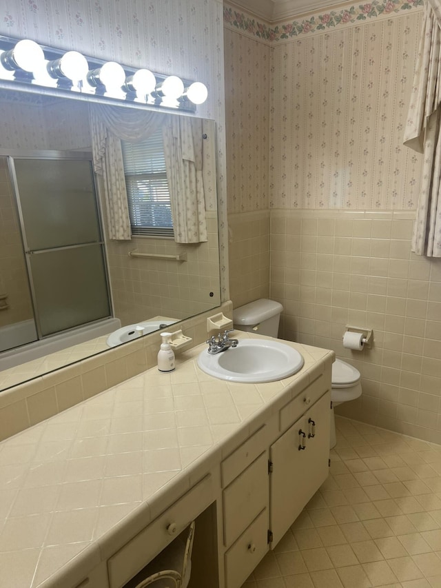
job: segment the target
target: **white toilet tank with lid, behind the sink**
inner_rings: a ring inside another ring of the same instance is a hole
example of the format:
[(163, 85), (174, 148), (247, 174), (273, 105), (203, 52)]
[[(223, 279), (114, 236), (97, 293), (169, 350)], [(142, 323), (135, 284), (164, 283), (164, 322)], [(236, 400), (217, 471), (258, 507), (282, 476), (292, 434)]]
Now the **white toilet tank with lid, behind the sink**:
[(270, 337), (278, 336), (278, 323), (283, 306), (274, 300), (260, 298), (233, 311), (234, 328)]

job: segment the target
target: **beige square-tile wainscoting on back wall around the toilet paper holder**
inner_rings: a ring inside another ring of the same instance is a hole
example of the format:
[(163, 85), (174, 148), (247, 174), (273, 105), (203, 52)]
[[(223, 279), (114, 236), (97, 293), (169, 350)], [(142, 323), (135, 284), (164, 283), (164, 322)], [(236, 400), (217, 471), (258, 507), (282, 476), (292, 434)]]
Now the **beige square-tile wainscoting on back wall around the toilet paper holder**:
[[(441, 442), (441, 259), (411, 253), (414, 212), (271, 211), (271, 298), (280, 336), (333, 349), (362, 374), (344, 416)], [(347, 325), (371, 349), (342, 346)]]

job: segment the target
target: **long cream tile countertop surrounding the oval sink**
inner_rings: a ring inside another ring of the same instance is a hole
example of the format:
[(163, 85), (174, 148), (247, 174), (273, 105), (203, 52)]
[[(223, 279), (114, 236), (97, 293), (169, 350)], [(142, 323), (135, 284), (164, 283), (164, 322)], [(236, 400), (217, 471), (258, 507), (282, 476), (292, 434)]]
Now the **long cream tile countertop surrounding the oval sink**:
[(1, 442), (0, 586), (80, 581), (296, 396), (318, 361), (334, 361), (284, 343), (305, 365), (283, 381), (212, 378), (198, 345), (170, 374), (149, 369)]

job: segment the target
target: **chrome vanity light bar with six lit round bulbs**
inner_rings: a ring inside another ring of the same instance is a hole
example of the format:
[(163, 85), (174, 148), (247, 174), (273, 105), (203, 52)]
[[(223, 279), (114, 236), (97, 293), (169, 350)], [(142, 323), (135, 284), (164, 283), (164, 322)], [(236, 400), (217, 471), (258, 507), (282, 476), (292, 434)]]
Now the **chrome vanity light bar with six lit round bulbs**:
[[(50, 94), (66, 96), (75, 92), (97, 97), (194, 112), (207, 99), (201, 82), (134, 69), (86, 57), (78, 51), (64, 51), (40, 45), (30, 39), (0, 36), (0, 85), (8, 82), (17, 90), (50, 89)], [(4, 84), (3, 84), (4, 85)]]

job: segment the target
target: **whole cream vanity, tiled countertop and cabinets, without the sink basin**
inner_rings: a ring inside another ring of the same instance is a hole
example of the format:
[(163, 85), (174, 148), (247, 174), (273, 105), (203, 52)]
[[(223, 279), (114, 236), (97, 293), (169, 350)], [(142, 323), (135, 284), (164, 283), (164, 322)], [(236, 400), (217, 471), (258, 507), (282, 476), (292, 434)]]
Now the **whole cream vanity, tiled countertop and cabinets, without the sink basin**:
[(4, 585), (122, 588), (196, 519), (190, 586), (240, 588), (328, 473), (334, 353), (288, 344), (282, 381), (220, 381), (198, 345), (1, 443)]

